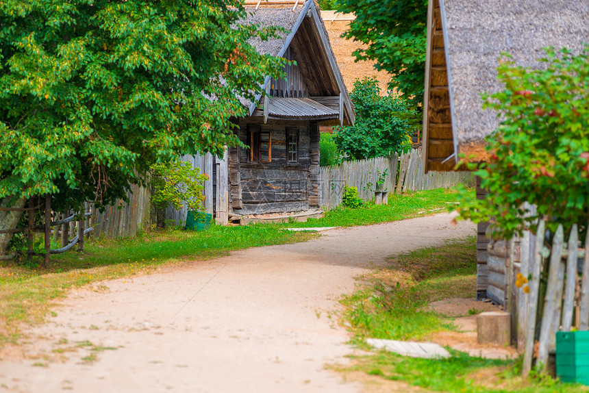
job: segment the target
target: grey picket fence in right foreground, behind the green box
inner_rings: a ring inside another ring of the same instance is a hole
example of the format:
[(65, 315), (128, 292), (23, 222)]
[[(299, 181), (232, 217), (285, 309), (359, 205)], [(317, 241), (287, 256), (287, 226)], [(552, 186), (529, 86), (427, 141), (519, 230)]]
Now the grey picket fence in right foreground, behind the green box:
[(498, 273), (504, 277), (496, 281), (499, 286), (503, 283), (504, 307), (512, 315), (512, 337), (518, 352), (524, 354), (523, 375), (529, 374), (535, 352), (536, 367), (547, 372), (556, 331), (589, 329), (589, 237), (585, 248), (579, 249), (577, 225), (568, 242), (560, 225), (548, 249), (545, 224), (540, 220), (536, 236), (525, 231), (522, 238), (489, 246), (490, 251), (494, 249), (490, 255), (504, 257)]

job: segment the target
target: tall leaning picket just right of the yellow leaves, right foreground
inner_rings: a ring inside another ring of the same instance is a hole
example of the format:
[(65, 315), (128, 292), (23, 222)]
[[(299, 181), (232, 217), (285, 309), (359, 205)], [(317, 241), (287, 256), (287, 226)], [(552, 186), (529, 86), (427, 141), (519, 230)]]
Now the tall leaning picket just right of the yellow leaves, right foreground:
[(544, 241), (544, 227), (546, 222), (540, 218), (536, 244), (534, 247), (533, 264), (530, 266), (531, 279), (529, 280), (529, 310), (527, 333), (525, 338), (525, 353), (523, 355), (522, 375), (527, 377), (531, 371), (531, 360), (534, 355), (534, 333), (536, 332), (536, 309), (538, 309), (538, 296), (540, 291), (540, 272), (542, 271), (542, 242)]

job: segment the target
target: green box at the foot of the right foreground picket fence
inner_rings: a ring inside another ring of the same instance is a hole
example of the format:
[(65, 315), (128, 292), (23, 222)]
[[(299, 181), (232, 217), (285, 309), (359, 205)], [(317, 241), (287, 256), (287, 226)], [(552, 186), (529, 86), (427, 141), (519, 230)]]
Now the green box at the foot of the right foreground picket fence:
[(589, 331), (556, 332), (556, 376), (589, 385)]

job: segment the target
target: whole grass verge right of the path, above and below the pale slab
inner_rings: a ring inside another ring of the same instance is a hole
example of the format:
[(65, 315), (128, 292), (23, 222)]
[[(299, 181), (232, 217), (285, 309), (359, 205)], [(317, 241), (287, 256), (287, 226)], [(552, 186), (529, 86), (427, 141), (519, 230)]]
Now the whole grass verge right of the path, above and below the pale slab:
[[(473, 296), (476, 238), (392, 257), (389, 268), (362, 279), (371, 286), (342, 300), (344, 323), (351, 327), (355, 344), (367, 348), (364, 339), (368, 337), (419, 340), (436, 331), (453, 329), (447, 320), (424, 306), (432, 301)], [(336, 369), (344, 374), (362, 372), (383, 384), (403, 381), (436, 392), (589, 392), (587, 387), (549, 377), (523, 380), (519, 362), (449, 351), (449, 359), (439, 360), (379, 351), (375, 355), (353, 356), (353, 366)], [(370, 385), (367, 387), (370, 391)]]

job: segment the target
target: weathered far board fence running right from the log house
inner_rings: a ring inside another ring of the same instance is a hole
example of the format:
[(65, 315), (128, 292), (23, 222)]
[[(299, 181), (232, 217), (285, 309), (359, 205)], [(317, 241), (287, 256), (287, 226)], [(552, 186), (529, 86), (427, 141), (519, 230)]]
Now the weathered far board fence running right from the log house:
[(471, 172), (429, 172), (423, 173), (423, 153), (414, 149), (390, 157), (369, 158), (347, 161), (337, 166), (321, 167), (319, 203), (323, 210), (333, 209), (342, 203), (345, 186), (358, 188), (364, 201), (375, 198), (377, 183), (384, 181), (381, 188), (390, 194), (407, 191), (448, 188), (459, 183), (474, 185)]

